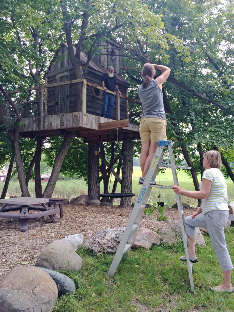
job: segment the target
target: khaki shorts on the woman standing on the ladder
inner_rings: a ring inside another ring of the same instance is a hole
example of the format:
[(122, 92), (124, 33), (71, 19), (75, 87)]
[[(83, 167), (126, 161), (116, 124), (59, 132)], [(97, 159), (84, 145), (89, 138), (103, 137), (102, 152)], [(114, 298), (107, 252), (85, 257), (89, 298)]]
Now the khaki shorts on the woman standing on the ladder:
[(143, 118), (140, 122), (140, 137), (141, 141), (158, 142), (159, 140), (165, 141), (166, 134), (166, 120), (149, 117)]

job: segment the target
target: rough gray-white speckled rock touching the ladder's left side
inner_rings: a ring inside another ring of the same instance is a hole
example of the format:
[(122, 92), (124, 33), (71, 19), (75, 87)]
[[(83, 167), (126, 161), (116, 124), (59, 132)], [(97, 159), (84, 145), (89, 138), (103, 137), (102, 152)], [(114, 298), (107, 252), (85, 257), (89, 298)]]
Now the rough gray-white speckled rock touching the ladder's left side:
[(104, 229), (84, 241), (85, 247), (93, 253), (114, 254), (124, 233), (125, 227)]

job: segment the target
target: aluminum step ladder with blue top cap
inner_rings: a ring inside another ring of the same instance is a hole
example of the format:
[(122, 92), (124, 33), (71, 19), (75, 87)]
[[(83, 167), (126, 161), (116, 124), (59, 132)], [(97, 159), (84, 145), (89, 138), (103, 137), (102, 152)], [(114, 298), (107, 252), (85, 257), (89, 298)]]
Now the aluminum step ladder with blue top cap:
[[(119, 242), (119, 246), (118, 246), (117, 251), (115, 253), (114, 259), (111, 263), (110, 269), (108, 271), (108, 275), (114, 275), (122, 257), (127, 258), (127, 256), (129, 255), (129, 251), (130, 251), (132, 243), (134, 241), (134, 237), (136, 235), (139, 223), (141, 221), (141, 218), (142, 218), (145, 206), (147, 204), (147, 201), (149, 199), (149, 195), (151, 193), (152, 188), (168, 188), (168, 189), (172, 188), (172, 185), (159, 185), (159, 184), (156, 184), (154, 186), (150, 185), (150, 181), (155, 180), (156, 175), (157, 175), (158, 170), (159, 170), (159, 167), (172, 168), (173, 182), (176, 185), (179, 185), (176, 169), (177, 168), (191, 169), (191, 167), (176, 166), (175, 165), (175, 159), (174, 159), (172, 146), (173, 146), (173, 144), (171, 141), (159, 141), (158, 142), (158, 147), (155, 151), (154, 158), (152, 159), (149, 170), (148, 170), (147, 175), (144, 179), (144, 183), (143, 183), (142, 188), (140, 190), (137, 201), (135, 202), (132, 213), (129, 217), (129, 221), (128, 221), (126, 228), (124, 230), (122, 239)], [(170, 166), (162, 166), (161, 162), (163, 160), (163, 156), (164, 156), (164, 153), (165, 153), (167, 148), (168, 148), (171, 164), (170, 164)], [(178, 206), (178, 212), (179, 212), (179, 219), (180, 219), (180, 225), (181, 225), (182, 236), (183, 236), (185, 255), (186, 255), (186, 259), (187, 259), (189, 280), (190, 280), (191, 290), (194, 291), (193, 275), (192, 275), (193, 263), (191, 261), (189, 261), (188, 246), (187, 246), (188, 239), (187, 239), (187, 234), (186, 234), (186, 229), (185, 229), (185, 218), (184, 218), (184, 213), (183, 213), (183, 205), (182, 205), (181, 195), (176, 194), (176, 201), (177, 201), (177, 206)]]

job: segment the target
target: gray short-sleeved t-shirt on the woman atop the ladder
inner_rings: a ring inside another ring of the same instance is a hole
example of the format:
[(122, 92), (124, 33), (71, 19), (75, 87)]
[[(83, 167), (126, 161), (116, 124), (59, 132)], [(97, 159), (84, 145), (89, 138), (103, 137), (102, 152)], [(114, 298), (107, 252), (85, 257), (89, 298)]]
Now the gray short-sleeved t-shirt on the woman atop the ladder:
[(157, 117), (166, 120), (163, 107), (163, 92), (159, 88), (156, 80), (152, 79), (145, 89), (143, 88), (143, 85), (140, 85), (137, 93), (143, 107), (141, 119)]

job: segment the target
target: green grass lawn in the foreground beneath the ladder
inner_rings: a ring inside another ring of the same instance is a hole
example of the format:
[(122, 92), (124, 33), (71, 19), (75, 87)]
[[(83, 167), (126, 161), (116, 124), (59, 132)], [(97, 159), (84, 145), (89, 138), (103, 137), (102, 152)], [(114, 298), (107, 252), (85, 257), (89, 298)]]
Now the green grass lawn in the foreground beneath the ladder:
[[(199, 262), (194, 264), (194, 292), (190, 290), (187, 264), (179, 260), (184, 254), (183, 244), (131, 250), (113, 276), (107, 276), (113, 255), (92, 255), (81, 246), (78, 254), (83, 259), (82, 269), (63, 272), (78, 289), (59, 298), (54, 312), (234, 311), (233, 294), (210, 290), (222, 282), (222, 271), (209, 236), (204, 238), (206, 247), (196, 247)], [(226, 231), (226, 240), (233, 255), (233, 227)]]

